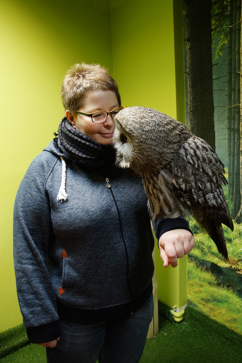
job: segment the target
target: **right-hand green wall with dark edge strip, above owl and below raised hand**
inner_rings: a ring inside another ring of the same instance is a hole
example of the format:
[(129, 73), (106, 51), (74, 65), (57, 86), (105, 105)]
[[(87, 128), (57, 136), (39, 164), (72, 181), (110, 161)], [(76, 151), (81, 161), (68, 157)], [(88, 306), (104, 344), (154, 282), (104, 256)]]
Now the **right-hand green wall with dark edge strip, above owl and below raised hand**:
[[(122, 106), (151, 107), (185, 123), (182, 1), (174, 0), (174, 7), (172, 0), (114, 1), (111, 26)], [(158, 299), (181, 309), (187, 302), (187, 257), (166, 269), (156, 249)]]

